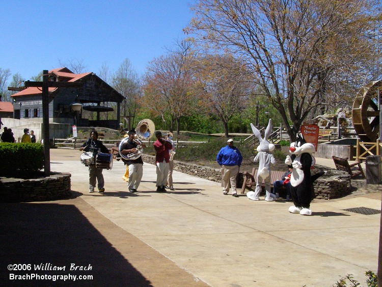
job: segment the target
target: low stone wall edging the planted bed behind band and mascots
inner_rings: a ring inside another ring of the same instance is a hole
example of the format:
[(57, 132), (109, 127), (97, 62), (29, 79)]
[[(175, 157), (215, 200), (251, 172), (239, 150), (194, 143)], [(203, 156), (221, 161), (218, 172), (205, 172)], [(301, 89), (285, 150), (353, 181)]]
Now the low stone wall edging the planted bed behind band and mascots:
[[(155, 156), (153, 155), (143, 154), (142, 159), (145, 163), (155, 165)], [(174, 170), (216, 182), (222, 181), (220, 169), (216, 168), (174, 161)], [(326, 173), (319, 177), (313, 184), (316, 198), (337, 198), (351, 192), (350, 175), (347, 172), (318, 165), (316, 165), (315, 170), (326, 171)], [(240, 173), (239, 176), (242, 178), (242, 173)], [(242, 186), (243, 180), (240, 181), (237, 183), (238, 188)]]

